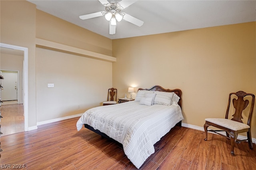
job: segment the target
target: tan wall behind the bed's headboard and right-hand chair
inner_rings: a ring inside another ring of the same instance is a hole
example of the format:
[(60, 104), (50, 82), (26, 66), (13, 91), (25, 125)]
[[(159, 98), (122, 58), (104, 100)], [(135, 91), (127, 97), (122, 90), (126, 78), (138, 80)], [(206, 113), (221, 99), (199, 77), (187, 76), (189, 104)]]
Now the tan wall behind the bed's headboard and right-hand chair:
[(249, 22), (113, 40), (113, 86), (119, 98), (129, 86), (180, 88), (183, 122), (203, 127), (224, 116), (230, 92), (256, 94), (255, 30)]

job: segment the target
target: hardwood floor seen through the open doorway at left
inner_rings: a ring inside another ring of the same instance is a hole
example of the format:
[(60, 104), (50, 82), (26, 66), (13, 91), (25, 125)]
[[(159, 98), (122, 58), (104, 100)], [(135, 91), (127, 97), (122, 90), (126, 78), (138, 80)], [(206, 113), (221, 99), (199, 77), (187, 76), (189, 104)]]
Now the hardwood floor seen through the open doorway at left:
[[(5, 102), (4, 102), (5, 103)], [(1, 106), (1, 136), (24, 132), (23, 104), (6, 104)]]

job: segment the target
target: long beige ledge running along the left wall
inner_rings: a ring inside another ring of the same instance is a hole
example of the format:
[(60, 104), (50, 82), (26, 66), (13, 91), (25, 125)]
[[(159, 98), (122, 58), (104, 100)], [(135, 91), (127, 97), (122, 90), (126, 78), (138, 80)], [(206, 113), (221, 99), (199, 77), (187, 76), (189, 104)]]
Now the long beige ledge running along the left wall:
[(36, 47), (45, 48), (45, 49), (49, 49), (49, 50), (55, 50), (55, 51), (59, 51), (59, 52), (65, 52), (68, 54), (74, 54), (74, 55), (78, 55), (78, 56), (94, 58), (94, 59), (98, 59), (98, 60), (104, 60), (104, 61), (108, 61), (108, 62), (116, 62), (116, 58), (112, 57), (112, 56), (107, 56), (107, 55), (100, 54), (97, 52), (83, 50), (81, 48), (67, 46), (64, 44), (59, 44), (56, 42), (43, 40), (40, 38), (36, 38)]

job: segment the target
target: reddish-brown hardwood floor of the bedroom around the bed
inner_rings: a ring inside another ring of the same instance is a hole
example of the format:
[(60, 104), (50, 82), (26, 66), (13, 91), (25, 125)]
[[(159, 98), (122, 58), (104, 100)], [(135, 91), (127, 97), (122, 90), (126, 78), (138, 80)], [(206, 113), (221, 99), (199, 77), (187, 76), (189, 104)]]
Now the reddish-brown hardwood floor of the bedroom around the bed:
[[(0, 166), (24, 164), (27, 170), (136, 170), (118, 144), (82, 128), (78, 118), (38, 126), (37, 130), (1, 137)], [(160, 142), (141, 170), (253, 170), (256, 146), (229, 141), (185, 127), (174, 127)], [(12, 168), (12, 167), (11, 167)]]

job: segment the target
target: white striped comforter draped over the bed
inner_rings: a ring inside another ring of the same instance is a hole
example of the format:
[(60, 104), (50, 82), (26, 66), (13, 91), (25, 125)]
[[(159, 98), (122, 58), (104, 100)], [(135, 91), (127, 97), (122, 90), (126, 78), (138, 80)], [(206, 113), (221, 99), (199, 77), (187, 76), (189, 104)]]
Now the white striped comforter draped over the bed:
[(125, 102), (87, 110), (77, 121), (77, 130), (88, 124), (123, 144), (124, 153), (140, 168), (155, 152), (154, 144), (180, 120), (180, 106), (140, 105)]

